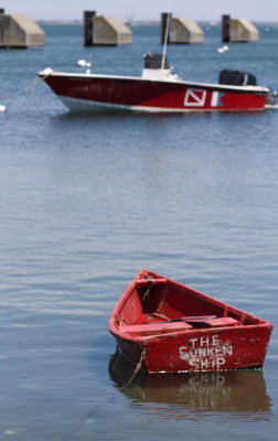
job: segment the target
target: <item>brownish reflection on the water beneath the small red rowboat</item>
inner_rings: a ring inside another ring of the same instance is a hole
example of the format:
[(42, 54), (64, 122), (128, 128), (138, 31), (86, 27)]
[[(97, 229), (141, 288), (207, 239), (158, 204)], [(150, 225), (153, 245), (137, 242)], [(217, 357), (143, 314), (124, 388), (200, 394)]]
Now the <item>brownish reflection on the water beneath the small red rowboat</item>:
[(186, 419), (193, 412), (195, 417), (221, 412), (237, 420), (270, 418), (270, 398), (261, 370), (177, 375), (147, 375), (139, 370), (132, 378), (135, 369), (119, 352), (110, 359), (109, 374), (116, 387), (133, 406), (148, 404), (152, 416)]

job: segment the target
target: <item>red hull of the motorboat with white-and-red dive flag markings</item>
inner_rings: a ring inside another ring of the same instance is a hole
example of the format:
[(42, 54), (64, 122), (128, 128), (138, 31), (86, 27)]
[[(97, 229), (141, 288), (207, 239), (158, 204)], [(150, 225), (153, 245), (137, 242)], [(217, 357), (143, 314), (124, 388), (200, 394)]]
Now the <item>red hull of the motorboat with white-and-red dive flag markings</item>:
[(93, 74), (41, 74), (72, 110), (94, 107), (139, 111), (263, 110), (268, 89)]

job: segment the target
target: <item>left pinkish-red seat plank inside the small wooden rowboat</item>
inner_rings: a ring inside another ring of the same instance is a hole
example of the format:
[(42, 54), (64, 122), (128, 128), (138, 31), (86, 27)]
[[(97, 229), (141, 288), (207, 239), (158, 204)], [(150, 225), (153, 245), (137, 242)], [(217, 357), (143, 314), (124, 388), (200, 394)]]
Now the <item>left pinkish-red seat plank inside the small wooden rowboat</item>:
[(159, 323), (142, 323), (120, 326), (120, 331), (129, 334), (152, 334), (168, 333), (191, 330), (192, 326), (183, 321), (181, 322), (159, 322)]

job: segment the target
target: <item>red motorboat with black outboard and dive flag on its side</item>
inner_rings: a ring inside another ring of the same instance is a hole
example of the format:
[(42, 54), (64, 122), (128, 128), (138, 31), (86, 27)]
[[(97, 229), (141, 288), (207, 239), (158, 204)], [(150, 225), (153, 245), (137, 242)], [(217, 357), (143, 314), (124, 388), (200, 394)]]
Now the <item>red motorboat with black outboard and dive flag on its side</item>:
[(223, 71), (218, 84), (184, 82), (173, 74), (167, 57), (148, 53), (141, 77), (54, 72), (39, 76), (73, 111), (122, 109), (147, 112), (264, 110), (271, 90), (245, 72)]

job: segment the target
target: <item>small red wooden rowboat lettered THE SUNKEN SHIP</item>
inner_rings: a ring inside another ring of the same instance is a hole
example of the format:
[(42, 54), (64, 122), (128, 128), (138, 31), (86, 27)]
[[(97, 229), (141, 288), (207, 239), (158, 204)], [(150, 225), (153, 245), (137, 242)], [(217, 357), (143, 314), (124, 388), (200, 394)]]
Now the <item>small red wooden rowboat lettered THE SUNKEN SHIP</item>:
[(148, 373), (260, 368), (272, 324), (149, 270), (109, 320), (119, 351)]

